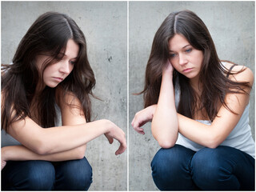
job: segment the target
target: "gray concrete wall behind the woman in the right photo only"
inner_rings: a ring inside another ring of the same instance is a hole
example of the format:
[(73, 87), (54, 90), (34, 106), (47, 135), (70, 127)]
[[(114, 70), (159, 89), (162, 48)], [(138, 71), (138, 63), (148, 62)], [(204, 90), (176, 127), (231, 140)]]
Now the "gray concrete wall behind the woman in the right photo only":
[[(173, 11), (192, 10), (210, 30), (218, 56), (255, 70), (254, 2), (129, 2), (129, 122), (143, 108), (142, 95), (146, 62), (154, 34)], [(255, 87), (255, 86), (254, 86)], [(254, 93), (250, 97), (250, 126), (254, 134)], [(150, 162), (159, 149), (150, 123), (145, 135), (130, 126), (129, 189), (157, 190), (151, 177)]]

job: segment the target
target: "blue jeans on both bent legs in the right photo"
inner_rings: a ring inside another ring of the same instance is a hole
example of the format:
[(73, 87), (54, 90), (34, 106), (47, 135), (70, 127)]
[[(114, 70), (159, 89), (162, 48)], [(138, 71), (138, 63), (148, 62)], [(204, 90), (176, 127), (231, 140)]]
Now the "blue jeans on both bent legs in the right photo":
[(151, 162), (159, 190), (254, 190), (254, 158), (230, 146), (194, 152), (175, 145)]

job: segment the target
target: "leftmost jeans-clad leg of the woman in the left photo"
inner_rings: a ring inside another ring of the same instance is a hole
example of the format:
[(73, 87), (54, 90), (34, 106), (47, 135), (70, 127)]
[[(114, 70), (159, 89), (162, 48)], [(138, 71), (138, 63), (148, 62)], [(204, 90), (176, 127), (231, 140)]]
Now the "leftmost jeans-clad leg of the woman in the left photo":
[(51, 162), (9, 161), (2, 170), (2, 190), (52, 190), (54, 179)]

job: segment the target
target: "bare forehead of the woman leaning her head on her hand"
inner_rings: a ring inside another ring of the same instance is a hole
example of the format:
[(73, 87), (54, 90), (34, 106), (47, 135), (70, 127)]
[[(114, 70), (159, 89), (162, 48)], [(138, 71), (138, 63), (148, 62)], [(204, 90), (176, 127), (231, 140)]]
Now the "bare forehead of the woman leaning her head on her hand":
[(170, 51), (178, 51), (190, 46), (190, 42), (182, 34), (175, 34), (173, 38), (170, 38), (168, 44)]

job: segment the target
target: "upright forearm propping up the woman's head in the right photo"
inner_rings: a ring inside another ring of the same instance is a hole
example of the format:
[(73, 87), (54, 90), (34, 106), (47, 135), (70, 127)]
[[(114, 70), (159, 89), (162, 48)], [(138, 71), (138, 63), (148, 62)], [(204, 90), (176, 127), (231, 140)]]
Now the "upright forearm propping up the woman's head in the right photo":
[(174, 146), (178, 138), (178, 118), (174, 102), (172, 75), (162, 75), (158, 105), (151, 124), (154, 138), (164, 148)]

